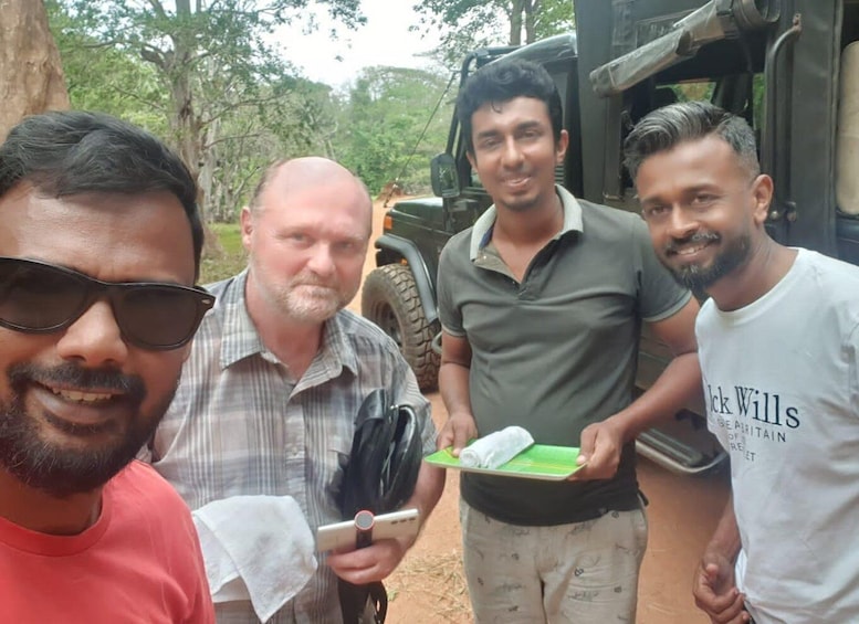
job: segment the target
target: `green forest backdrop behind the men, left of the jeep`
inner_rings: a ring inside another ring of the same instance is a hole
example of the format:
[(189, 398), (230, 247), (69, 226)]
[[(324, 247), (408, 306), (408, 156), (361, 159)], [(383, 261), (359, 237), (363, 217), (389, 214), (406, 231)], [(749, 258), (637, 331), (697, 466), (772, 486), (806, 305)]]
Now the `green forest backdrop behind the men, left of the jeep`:
[[(338, 160), (374, 195), (391, 184), (416, 194), (444, 149), (465, 53), (569, 30), (574, 17), (572, 0), (425, 0), (415, 11), (418, 25), (386, 25), (430, 41), (437, 70), (365, 67), (334, 88), (303, 77), (281, 52), (301, 38), (277, 32), (295, 20), (336, 23), (332, 38), (360, 29), (360, 0), (0, 0), (0, 87), (34, 64), (64, 91), (44, 107), (102, 110), (164, 138), (197, 178), (208, 223), (234, 222), (264, 167), (303, 155)], [(27, 24), (40, 19), (44, 33)], [(4, 95), (34, 99), (27, 91)], [(14, 121), (0, 119), (0, 136)]]

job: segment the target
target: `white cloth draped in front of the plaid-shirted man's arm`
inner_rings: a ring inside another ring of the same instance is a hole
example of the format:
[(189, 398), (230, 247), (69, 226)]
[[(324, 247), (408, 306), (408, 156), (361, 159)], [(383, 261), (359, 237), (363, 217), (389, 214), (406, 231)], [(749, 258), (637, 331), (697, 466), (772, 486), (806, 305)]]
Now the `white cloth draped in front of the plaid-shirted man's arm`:
[(233, 496), (192, 511), (212, 600), (250, 600), (270, 620), (316, 570), (314, 541), (291, 496)]

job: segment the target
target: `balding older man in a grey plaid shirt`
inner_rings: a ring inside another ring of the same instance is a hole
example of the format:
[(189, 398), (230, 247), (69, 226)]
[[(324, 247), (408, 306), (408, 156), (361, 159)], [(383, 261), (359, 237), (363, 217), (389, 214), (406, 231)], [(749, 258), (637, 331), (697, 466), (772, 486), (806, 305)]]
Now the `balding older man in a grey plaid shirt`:
[[(254, 496), (291, 496), (311, 529), (341, 521), (335, 496), (355, 416), (380, 388), (392, 403), (415, 409), (423, 451), (434, 451), (429, 403), (397, 345), (343, 309), (360, 284), (371, 214), (360, 180), (331, 160), (277, 162), (263, 174), (241, 215), (249, 267), (210, 287), (218, 305), (200, 327), (150, 448), (155, 468), (191, 509), (211, 509), (210, 504), (224, 509), (224, 501), (241, 496), (237, 512), (248, 514)], [(419, 508), (426, 519), (442, 487), (442, 473), (421, 466), (406, 507)], [(266, 528), (271, 563), (296, 531), (273, 518)], [(241, 525), (226, 539), (259, 543), (250, 531)], [(227, 596), (221, 602), (216, 581), (218, 621), (339, 622), (336, 577), (355, 584), (381, 580), (412, 541), (379, 540), (328, 556), (294, 597), (280, 594), (271, 618), (262, 617), (269, 610), (256, 602)], [(210, 552), (205, 554), (212, 563)], [(285, 575), (290, 568), (280, 570)], [(243, 579), (251, 594), (253, 580)]]

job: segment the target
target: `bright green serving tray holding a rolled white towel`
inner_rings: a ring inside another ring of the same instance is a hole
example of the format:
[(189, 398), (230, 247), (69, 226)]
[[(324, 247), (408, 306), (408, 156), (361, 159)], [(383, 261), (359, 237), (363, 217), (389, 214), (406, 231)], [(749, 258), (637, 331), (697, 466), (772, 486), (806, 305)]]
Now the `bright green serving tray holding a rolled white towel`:
[(442, 468), (454, 468), (467, 473), (545, 480), (563, 480), (584, 466), (584, 464), (582, 466), (576, 465), (578, 448), (574, 446), (534, 444), (497, 468), (467, 468), (461, 466), (459, 457), (454, 457), (451, 454), (451, 448), (449, 446), (441, 451), (436, 451), (436, 453), (426, 456), (423, 461)]

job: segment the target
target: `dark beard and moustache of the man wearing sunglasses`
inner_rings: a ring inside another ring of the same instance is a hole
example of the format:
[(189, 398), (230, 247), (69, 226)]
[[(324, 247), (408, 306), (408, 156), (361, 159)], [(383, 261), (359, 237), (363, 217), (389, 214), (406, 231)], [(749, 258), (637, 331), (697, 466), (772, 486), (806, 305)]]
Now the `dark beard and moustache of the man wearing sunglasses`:
[[(0, 401), (0, 467), (25, 486), (41, 489), (55, 498), (92, 491), (123, 469), (155, 433), (172, 401), (178, 385), (164, 396), (151, 413), (142, 414), (146, 387), (136, 376), (112, 370), (86, 370), (72, 363), (43, 369), (33, 364), (15, 364), (7, 371), (9, 400)], [(62, 421), (50, 413), (42, 417), (28, 412), (24, 395), (33, 384), (63, 384), (77, 389), (118, 390), (123, 395), (113, 401), (127, 405), (125, 429), (121, 423), (78, 425)], [(49, 425), (40, 424), (49, 421)], [(52, 426), (80, 444), (63, 445), (48, 440), (40, 429)], [(109, 440), (96, 444), (87, 438)]]

